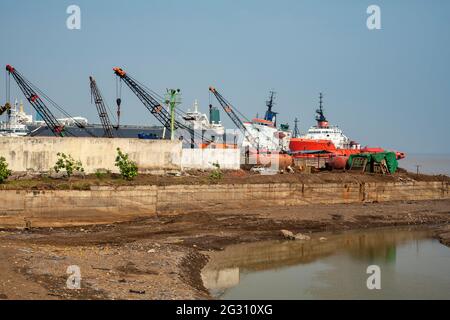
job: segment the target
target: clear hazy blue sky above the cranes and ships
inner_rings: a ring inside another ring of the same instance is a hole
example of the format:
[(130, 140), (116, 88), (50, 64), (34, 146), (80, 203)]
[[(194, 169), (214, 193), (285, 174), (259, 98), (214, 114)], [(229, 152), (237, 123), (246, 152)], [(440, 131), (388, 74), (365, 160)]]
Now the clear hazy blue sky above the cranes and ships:
[[(367, 28), (369, 5), (381, 30)], [(449, 154), (449, 15), (447, 0), (2, 0), (0, 64), (90, 122), (89, 76), (114, 108), (120, 66), (161, 95), (181, 89), (184, 110), (219, 106), (212, 85), (251, 118), (274, 90), (279, 123), (297, 117), (302, 132), (323, 92), (330, 123), (363, 146)], [(23, 99), (13, 81), (11, 97)], [(157, 124), (125, 85), (121, 123)]]

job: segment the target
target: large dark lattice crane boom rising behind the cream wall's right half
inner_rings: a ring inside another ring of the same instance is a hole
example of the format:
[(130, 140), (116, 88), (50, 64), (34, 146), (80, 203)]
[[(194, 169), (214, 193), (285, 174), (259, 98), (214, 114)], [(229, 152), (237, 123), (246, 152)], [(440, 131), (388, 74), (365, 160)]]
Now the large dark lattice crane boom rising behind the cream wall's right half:
[[(121, 68), (113, 68), (114, 74), (119, 77), (122, 81), (124, 81), (127, 86), (133, 91), (133, 93), (141, 100), (144, 106), (150, 111), (150, 113), (167, 129), (170, 131), (170, 113), (164, 108), (164, 106), (158, 101), (158, 98), (155, 97), (156, 94), (151, 93), (148, 88), (145, 88), (144, 85), (139, 83), (137, 80), (133, 79), (130, 75), (128, 75)], [(118, 99), (119, 100), (119, 99)], [(191, 145), (194, 144), (194, 138), (198, 136), (203, 142), (211, 142), (209, 139), (205, 139), (202, 134), (198, 134), (189, 127), (188, 125), (182, 123), (181, 121), (175, 119), (175, 130), (183, 129), (189, 134), (189, 137), (184, 137)]]

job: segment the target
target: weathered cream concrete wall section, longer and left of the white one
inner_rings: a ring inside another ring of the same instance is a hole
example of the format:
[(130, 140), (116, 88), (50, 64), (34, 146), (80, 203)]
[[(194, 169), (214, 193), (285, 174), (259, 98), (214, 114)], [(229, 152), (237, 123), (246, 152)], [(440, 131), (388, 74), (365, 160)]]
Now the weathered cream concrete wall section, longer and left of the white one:
[(1, 138), (0, 156), (13, 171), (47, 172), (57, 160), (57, 153), (81, 160), (87, 173), (97, 169), (117, 172), (116, 149), (128, 153), (141, 172), (181, 169), (181, 142), (167, 140), (21, 137)]

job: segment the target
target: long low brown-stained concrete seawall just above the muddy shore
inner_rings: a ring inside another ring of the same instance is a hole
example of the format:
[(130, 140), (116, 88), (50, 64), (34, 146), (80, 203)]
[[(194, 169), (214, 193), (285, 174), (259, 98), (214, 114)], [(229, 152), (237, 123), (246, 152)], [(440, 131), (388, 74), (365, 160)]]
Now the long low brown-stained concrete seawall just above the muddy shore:
[[(447, 182), (233, 184), (1, 191), (0, 227), (112, 223), (193, 211), (449, 199)], [(275, 210), (275, 209), (274, 209)]]

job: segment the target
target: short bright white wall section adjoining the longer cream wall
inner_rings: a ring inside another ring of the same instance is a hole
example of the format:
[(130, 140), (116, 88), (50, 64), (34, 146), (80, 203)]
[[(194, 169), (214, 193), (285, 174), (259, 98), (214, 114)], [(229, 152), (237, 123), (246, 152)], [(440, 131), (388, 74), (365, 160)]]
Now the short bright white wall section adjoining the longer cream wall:
[(214, 169), (218, 163), (220, 168), (238, 170), (241, 166), (239, 149), (183, 149), (181, 166), (183, 169)]

